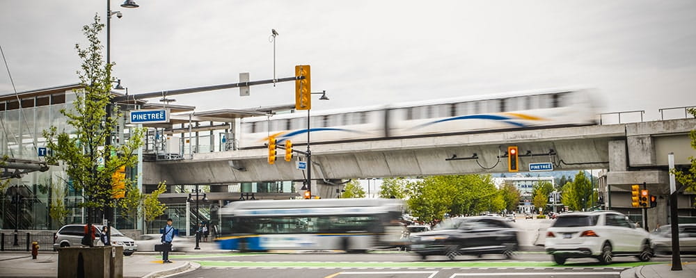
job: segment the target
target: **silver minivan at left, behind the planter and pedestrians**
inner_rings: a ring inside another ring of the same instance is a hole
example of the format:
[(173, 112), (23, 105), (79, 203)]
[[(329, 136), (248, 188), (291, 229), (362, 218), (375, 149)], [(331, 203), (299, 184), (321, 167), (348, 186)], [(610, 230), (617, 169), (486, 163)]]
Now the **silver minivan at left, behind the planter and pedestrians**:
[[(53, 250), (56, 251), (61, 247), (84, 246), (82, 238), (84, 237), (84, 229), (86, 224), (68, 224), (56, 232), (53, 240)], [(100, 236), (102, 235), (102, 225), (93, 224), (96, 234), (93, 245), (97, 245)], [(138, 250), (138, 245), (131, 238), (124, 236), (118, 229), (111, 227), (111, 245), (123, 246), (123, 255), (130, 256)]]

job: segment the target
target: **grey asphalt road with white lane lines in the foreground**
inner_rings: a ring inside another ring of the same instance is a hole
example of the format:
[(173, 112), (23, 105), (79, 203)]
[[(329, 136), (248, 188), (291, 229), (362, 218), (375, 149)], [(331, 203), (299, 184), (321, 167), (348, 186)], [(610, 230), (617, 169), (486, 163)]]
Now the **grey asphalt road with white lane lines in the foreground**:
[[(685, 258), (695, 261), (696, 258)], [(515, 259), (487, 255), (482, 258), (460, 256), (449, 261), (432, 256), (421, 261), (406, 252), (370, 254), (211, 254), (174, 256), (173, 260), (200, 263), (198, 270), (182, 273), (177, 278), (199, 277), (619, 277), (622, 270), (644, 263), (634, 257), (616, 257), (611, 265), (599, 265), (593, 259), (570, 259), (555, 265), (543, 252), (521, 252)], [(654, 261), (669, 261), (669, 257)]]

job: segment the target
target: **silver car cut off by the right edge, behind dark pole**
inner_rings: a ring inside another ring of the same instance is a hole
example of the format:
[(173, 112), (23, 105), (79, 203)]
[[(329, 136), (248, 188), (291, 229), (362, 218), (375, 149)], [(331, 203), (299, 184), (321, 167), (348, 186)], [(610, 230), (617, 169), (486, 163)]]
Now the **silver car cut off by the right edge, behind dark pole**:
[[(650, 241), (655, 254), (672, 254), (672, 227), (655, 229)], [(696, 224), (679, 224), (679, 253), (696, 254)]]

